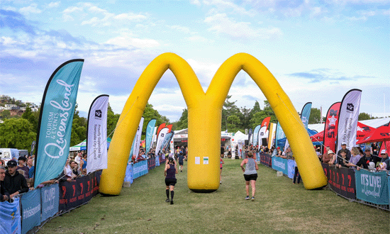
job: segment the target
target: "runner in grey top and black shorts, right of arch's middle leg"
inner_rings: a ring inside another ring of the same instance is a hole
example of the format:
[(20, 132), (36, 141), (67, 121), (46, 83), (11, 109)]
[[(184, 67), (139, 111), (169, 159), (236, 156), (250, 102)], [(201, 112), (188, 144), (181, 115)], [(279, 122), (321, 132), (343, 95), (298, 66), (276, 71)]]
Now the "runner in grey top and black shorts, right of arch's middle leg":
[[(247, 196), (245, 197), (245, 200), (249, 200), (249, 184), (252, 186), (252, 201), (255, 201), (255, 192), (256, 192), (256, 179), (257, 179), (257, 172), (256, 170), (259, 169), (259, 166), (257, 165), (257, 162), (253, 159), (253, 152), (250, 151), (247, 153), (247, 157), (243, 162), (241, 162), (241, 169), (243, 169), (244, 172), (244, 178), (245, 178), (245, 190), (247, 192)], [(244, 169), (244, 165), (245, 169)]]

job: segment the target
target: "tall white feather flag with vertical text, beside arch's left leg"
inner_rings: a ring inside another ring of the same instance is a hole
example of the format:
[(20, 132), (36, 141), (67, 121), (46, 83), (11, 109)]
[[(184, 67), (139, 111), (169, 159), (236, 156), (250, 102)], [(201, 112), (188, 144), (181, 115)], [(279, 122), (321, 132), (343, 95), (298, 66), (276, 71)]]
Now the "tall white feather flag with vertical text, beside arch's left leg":
[(107, 168), (107, 109), (108, 95), (94, 101), (88, 113), (87, 126), (87, 173)]

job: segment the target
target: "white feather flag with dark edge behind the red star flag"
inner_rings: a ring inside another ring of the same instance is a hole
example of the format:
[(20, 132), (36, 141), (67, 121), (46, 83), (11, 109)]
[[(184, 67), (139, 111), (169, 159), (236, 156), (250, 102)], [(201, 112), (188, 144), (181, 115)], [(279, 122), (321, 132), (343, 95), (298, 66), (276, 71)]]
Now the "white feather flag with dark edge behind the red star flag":
[(347, 149), (356, 145), (357, 119), (359, 118), (361, 96), (362, 90), (351, 89), (342, 98), (338, 121), (337, 151), (341, 149), (342, 143), (347, 145)]

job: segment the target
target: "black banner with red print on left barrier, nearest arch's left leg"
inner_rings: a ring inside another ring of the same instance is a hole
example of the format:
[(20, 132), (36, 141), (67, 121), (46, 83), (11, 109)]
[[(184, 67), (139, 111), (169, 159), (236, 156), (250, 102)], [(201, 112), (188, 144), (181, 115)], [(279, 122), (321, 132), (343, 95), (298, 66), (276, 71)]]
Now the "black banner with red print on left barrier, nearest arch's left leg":
[(98, 193), (101, 170), (60, 183), (60, 211), (67, 211), (91, 200)]

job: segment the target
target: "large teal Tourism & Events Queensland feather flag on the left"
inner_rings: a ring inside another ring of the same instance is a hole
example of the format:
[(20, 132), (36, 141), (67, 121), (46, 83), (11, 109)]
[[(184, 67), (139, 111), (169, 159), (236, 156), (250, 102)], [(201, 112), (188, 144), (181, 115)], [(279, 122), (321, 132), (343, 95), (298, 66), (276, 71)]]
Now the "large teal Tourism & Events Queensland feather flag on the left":
[(57, 177), (69, 155), (74, 106), (84, 60), (69, 60), (50, 77), (40, 107), (34, 186)]

